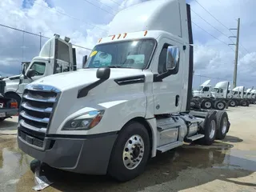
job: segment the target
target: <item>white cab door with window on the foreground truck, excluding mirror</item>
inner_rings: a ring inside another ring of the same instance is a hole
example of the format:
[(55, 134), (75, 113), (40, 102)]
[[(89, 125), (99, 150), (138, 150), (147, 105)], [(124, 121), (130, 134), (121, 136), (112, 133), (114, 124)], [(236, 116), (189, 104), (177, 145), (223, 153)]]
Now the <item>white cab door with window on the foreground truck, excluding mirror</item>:
[(179, 63), (184, 62), (184, 50), (182, 50), (182, 44), (174, 42), (169, 38), (162, 38), (158, 42), (158, 65), (154, 66), (154, 72), (157, 74), (163, 74), (166, 72), (166, 54), (168, 46), (178, 46), (179, 59), (178, 59), (178, 72), (177, 74), (168, 75), (163, 78), (162, 81), (153, 82), (153, 94), (154, 94), (154, 114), (166, 114), (179, 112), (182, 106), (182, 65)]

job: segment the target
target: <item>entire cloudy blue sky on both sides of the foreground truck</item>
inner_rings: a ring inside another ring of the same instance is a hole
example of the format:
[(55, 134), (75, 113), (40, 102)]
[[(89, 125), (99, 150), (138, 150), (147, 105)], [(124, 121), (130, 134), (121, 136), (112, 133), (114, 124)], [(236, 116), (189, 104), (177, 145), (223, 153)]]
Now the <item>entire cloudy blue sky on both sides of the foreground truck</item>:
[[(0, 1), (0, 14), (5, 17), (0, 19), (0, 23), (36, 34), (41, 32), (47, 37), (55, 33), (66, 35), (77, 45), (93, 48), (98, 38), (106, 34), (107, 25), (114, 18), (114, 14), (118, 10), (139, 2), (142, 0), (4, 0)], [(256, 31), (254, 11), (256, 1), (187, 0), (186, 2), (190, 3), (192, 10), (196, 13), (192, 11), (193, 22), (222, 41), (193, 25), (195, 74), (215, 77), (212, 78), (212, 84), (222, 79), (233, 79), (234, 51), (226, 44), (231, 43), (228, 36), (232, 34), (228, 28), (236, 27), (235, 19), (240, 17), (242, 46), (239, 49), (241, 52), (238, 62), (238, 84), (254, 86), (256, 44), (253, 39)], [(223, 25), (198, 3), (218, 18)], [(0, 28), (0, 43), (5, 47), (0, 50), (0, 74), (18, 74), (21, 62), (30, 61), (38, 54), (39, 38), (30, 34), (23, 35), (19, 31), (1, 26)], [(45, 41), (46, 39), (42, 38), (42, 43)], [(234, 46), (231, 47), (234, 49)], [(82, 61), (82, 55), (88, 54), (87, 52), (78, 49), (78, 60)], [(207, 79), (195, 76), (194, 86), (198, 86)]]

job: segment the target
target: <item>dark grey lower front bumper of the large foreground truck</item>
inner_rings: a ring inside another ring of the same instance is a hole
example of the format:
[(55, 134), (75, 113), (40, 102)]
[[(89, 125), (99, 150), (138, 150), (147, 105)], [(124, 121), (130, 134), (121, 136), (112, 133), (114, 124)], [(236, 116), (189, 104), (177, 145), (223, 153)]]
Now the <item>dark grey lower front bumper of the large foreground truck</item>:
[(116, 133), (100, 135), (55, 135), (43, 140), (18, 130), (18, 147), (31, 157), (61, 170), (80, 174), (106, 174)]

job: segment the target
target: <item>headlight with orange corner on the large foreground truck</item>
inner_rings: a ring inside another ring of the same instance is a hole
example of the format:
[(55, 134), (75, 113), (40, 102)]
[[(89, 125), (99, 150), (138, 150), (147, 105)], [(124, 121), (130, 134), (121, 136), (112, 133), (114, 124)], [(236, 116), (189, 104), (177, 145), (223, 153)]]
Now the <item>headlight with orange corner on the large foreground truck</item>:
[(104, 110), (93, 110), (66, 122), (62, 130), (90, 130), (102, 120)]

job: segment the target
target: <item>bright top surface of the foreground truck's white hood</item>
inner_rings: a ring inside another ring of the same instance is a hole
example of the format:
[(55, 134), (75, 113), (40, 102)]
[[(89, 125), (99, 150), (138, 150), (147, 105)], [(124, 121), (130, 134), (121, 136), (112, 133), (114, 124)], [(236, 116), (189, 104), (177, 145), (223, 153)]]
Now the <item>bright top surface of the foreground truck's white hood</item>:
[[(54, 86), (58, 90), (69, 90), (75, 86), (85, 86), (93, 82), (98, 81), (96, 72), (98, 68), (79, 69), (76, 71), (64, 72), (61, 74), (52, 74), (45, 78), (40, 78), (30, 84), (43, 84), (48, 86)], [(138, 69), (110, 69), (110, 78), (125, 78), (134, 75), (144, 74), (142, 70)]]

